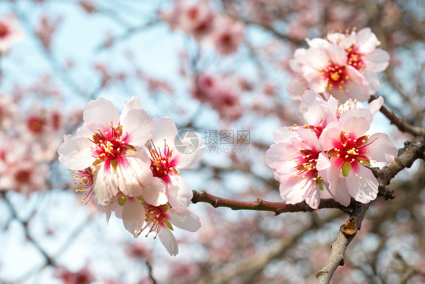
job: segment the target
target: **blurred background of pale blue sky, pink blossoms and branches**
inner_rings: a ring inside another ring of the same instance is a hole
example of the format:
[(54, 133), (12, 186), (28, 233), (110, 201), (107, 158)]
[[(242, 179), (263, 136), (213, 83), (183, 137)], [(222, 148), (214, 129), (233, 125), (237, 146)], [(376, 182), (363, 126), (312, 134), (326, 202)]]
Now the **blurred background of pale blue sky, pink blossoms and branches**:
[[(338, 209), (274, 216), (191, 204), (203, 226), (175, 231), (175, 257), (117, 218), (106, 224), (57, 161), (90, 99), (121, 108), (137, 96), (152, 117), (203, 134), (204, 159), (180, 172), (193, 190), (282, 202), (264, 153), (273, 131), (304, 122), (286, 91), (295, 49), (370, 27), (391, 58), (377, 96), (424, 125), (421, 0), (1, 0), (4, 18), (18, 36), (0, 49), (0, 283), (308, 284), (330, 255), (347, 219)], [(398, 148), (415, 138), (382, 114), (374, 130)], [(224, 132), (235, 139), (224, 143)], [(371, 204), (331, 283), (425, 282), (424, 187), (423, 161), (392, 180), (396, 198)]]

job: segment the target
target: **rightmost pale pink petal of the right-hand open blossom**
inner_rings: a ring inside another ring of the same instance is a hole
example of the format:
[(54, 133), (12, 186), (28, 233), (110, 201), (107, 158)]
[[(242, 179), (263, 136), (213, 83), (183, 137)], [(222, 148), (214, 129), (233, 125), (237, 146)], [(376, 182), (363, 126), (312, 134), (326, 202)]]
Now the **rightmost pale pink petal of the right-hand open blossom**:
[(392, 162), (398, 156), (398, 149), (384, 133), (375, 133), (369, 136), (365, 144), (368, 158), (377, 162)]

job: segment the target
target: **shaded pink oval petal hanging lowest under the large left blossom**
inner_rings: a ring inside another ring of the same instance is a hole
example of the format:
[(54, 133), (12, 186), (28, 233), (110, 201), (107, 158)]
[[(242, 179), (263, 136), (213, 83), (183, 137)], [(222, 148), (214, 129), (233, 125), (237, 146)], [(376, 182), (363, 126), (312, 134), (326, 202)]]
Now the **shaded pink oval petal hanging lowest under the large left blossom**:
[(123, 224), (134, 238), (139, 236), (139, 232), (145, 221), (145, 208), (137, 199), (129, 198), (123, 205)]

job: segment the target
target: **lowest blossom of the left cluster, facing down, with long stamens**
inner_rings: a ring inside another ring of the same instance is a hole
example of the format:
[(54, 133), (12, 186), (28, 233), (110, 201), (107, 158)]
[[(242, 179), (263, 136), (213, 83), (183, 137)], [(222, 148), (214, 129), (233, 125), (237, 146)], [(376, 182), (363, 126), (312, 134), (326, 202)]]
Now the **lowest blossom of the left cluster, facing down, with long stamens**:
[(178, 253), (177, 241), (171, 233), (174, 230), (172, 225), (189, 232), (201, 228), (198, 216), (186, 208), (171, 208), (168, 204), (153, 206), (148, 203), (144, 203), (144, 206), (146, 225), (143, 230), (149, 228), (148, 234), (155, 232), (154, 239), (158, 236), (170, 255)]

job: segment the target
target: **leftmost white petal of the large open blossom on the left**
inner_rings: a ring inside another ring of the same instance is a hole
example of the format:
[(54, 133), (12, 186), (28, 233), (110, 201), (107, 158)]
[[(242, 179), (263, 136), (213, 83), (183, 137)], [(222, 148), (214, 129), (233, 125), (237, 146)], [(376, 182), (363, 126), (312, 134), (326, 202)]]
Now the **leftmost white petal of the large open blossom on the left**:
[(63, 142), (57, 149), (59, 162), (72, 170), (81, 170), (90, 166), (95, 158), (92, 157), (93, 142), (83, 137), (73, 137)]

